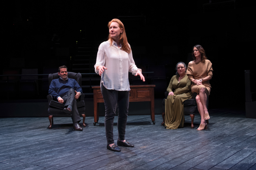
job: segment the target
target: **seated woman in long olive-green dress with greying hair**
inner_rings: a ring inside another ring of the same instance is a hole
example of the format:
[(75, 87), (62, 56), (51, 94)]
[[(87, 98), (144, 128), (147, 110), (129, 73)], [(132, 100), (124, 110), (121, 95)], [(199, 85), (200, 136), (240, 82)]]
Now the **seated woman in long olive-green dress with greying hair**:
[(165, 127), (166, 129), (177, 129), (183, 127), (184, 105), (183, 102), (191, 99), (191, 82), (186, 75), (187, 66), (183, 62), (176, 65), (178, 74), (171, 78), (167, 88), (168, 97), (165, 99)]

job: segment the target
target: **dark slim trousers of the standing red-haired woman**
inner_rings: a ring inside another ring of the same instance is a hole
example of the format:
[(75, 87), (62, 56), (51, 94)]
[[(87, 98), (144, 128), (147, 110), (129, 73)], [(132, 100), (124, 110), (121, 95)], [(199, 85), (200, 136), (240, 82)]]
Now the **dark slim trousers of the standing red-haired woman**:
[(100, 87), (105, 104), (105, 130), (108, 144), (113, 144), (113, 123), (118, 111), (117, 129), (118, 139), (125, 140), (125, 128), (129, 108), (129, 91), (108, 90), (103, 84)]

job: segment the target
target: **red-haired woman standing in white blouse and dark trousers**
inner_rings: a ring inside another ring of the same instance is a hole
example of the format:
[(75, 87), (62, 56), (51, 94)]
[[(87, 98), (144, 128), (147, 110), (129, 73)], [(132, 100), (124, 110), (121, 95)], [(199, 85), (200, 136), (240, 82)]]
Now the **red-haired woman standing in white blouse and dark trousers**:
[(123, 23), (119, 19), (113, 19), (108, 23), (108, 41), (100, 44), (95, 64), (95, 72), (101, 76), (100, 90), (105, 104), (105, 129), (107, 137), (107, 149), (120, 152), (114, 144), (113, 122), (118, 110), (118, 140), (117, 145), (134, 147), (125, 140), (125, 127), (129, 107), (129, 79), (128, 72), (145, 78), (132, 58), (131, 47), (127, 42)]

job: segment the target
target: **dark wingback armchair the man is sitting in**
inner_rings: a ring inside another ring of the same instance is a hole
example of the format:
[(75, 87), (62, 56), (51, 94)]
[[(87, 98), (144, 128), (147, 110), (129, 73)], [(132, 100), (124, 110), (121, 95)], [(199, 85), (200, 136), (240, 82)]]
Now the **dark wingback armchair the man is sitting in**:
[[(60, 76), (58, 73), (54, 74), (49, 74), (49, 86), (52, 82), (53, 79), (58, 79)], [(82, 76), (80, 73), (74, 73), (74, 72), (68, 72), (68, 78), (75, 79), (79, 86), (81, 87), (82, 83)], [(64, 104), (59, 103), (58, 101), (53, 100), (51, 95), (47, 96), (48, 103), (49, 103), (49, 108), (48, 108), (48, 113), (49, 113), (49, 121), (50, 121), (50, 126), (49, 129), (52, 127), (53, 124), (53, 116), (62, 116), (62, 115), (68, 115), (63, 112), (64, 109)], [(77, 99), (77, 109), (79, 114), (83, 116), (83, 125), (85, 127), (85, 104), (84, 104), (84, 94), (81, 94), (79, 98)]]

